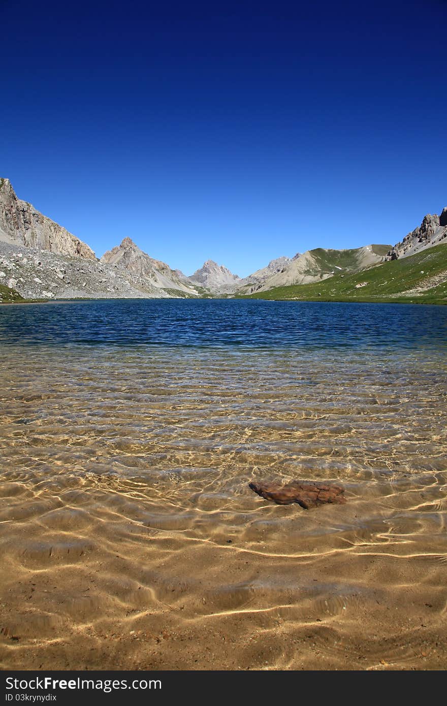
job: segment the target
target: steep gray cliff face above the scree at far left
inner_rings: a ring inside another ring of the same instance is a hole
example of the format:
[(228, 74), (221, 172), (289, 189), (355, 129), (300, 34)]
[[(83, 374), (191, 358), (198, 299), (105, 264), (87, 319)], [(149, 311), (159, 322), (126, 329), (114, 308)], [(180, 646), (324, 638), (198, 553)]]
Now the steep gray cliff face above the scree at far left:
[(9, 179), (0, 179), (0, 241), (96, 260), (93, 250), (83, 241), (17, 198)]

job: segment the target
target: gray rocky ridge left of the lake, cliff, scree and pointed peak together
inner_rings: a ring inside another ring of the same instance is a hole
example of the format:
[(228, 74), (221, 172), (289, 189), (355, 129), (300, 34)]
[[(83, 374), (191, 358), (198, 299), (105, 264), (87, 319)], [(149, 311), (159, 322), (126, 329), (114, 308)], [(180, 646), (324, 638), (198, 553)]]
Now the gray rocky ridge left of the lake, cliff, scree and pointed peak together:
[(8, 179), (0, 179), (0, 285), (25, 299), (199, 296), (187, 277), (130, 238), (98, 261), (88, 245), (20, 201)]

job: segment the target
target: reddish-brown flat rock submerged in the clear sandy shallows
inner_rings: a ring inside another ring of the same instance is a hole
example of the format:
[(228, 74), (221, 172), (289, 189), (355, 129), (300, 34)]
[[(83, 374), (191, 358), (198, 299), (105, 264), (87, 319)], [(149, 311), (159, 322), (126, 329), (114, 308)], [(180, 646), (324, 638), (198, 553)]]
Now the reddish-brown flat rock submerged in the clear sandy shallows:
[(338, 485), (314, 483), (313, 481), (292, 481), (287, 485), (281, 483), (249, 483), (251, 490), (266, 500), (272, 500), (278, 505), (298, 503), (305, 510), (315, 508), (322, 503), (345, 503), (345, 489)]

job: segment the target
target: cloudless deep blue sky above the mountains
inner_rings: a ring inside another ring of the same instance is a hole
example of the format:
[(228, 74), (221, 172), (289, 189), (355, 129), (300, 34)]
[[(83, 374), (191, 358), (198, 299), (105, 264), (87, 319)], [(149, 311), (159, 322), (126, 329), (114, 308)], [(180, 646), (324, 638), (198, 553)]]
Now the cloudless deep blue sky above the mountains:
[(186, 274), (394, 244), (447, 205), (447, 2), (0, 0), (0, 176)]

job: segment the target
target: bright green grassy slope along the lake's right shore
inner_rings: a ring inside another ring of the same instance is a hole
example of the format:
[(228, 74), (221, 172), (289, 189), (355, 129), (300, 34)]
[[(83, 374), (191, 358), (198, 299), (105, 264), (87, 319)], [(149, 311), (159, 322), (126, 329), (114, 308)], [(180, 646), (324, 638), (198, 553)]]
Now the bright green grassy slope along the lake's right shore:
[[(357, 286), (356, 285), (361, 285)], [(354, 274), (337, 274), (312, 285), (275, 287), (250, 299), (309, 301), (405, 301), (447, 303), (447, 244), (437, 245)]]

